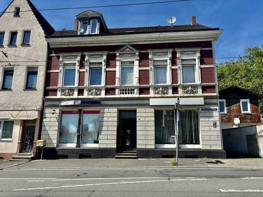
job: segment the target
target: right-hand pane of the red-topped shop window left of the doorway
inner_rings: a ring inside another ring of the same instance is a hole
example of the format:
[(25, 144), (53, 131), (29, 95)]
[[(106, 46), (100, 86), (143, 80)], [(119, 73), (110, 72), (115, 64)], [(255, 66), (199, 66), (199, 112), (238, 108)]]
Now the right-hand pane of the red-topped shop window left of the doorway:
[(99, 140), (100, 111), (83, 111), (81, 144), (97, 144)]

